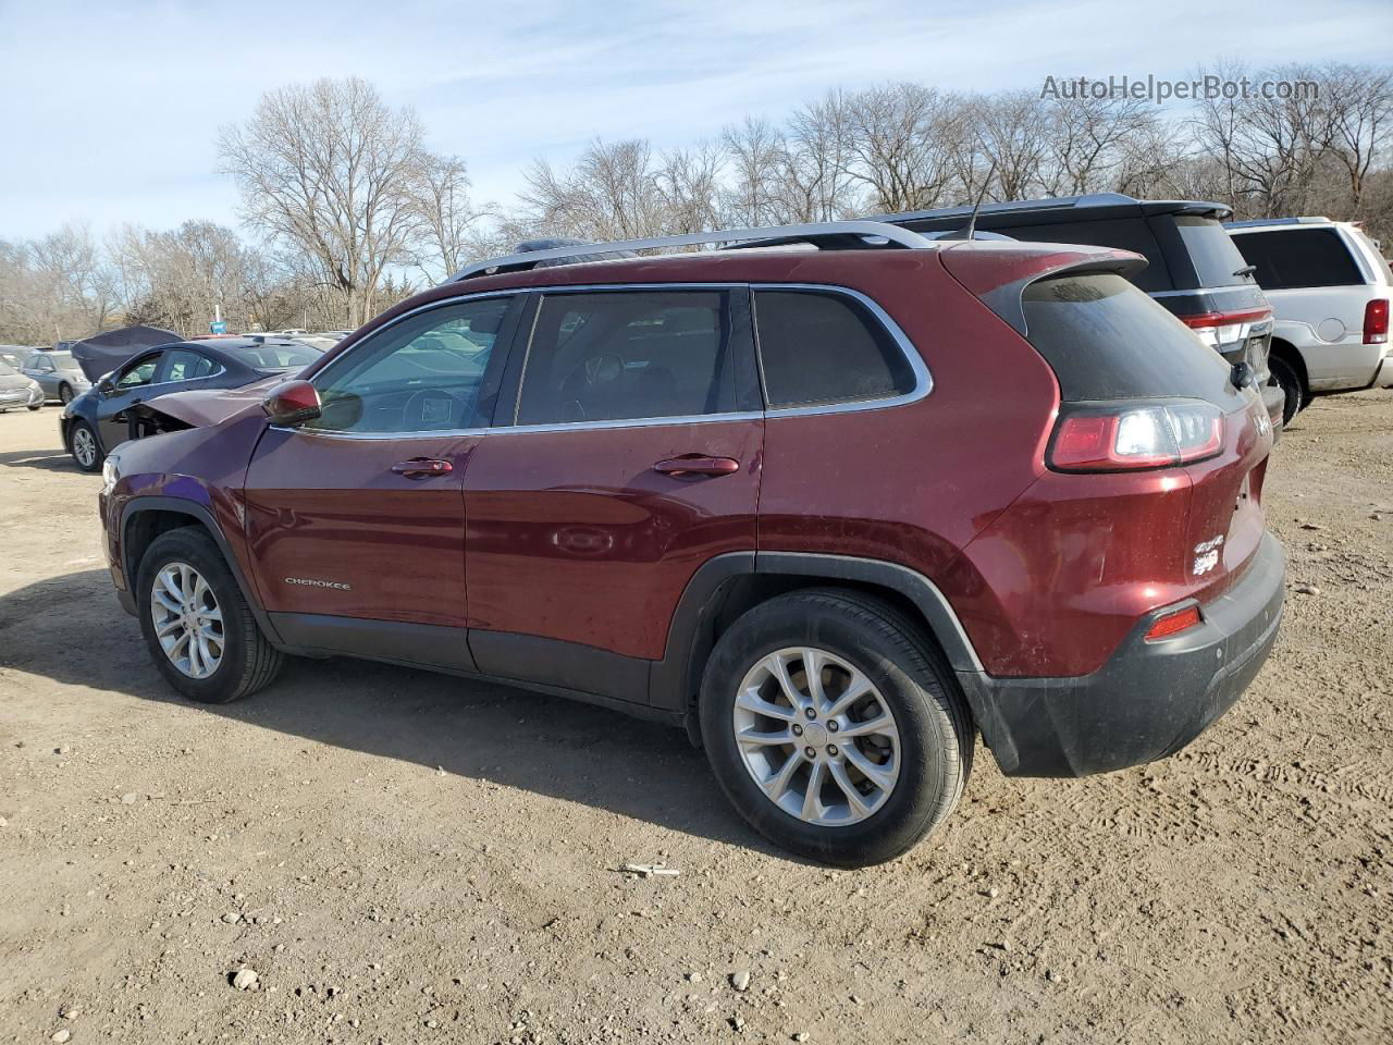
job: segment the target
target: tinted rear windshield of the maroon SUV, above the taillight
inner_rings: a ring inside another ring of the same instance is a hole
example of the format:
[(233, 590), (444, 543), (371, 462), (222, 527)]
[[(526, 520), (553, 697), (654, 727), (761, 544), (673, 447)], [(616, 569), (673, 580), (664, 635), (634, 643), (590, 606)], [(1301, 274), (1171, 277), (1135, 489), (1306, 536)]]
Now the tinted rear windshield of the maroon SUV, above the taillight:
[(1185, 396), (1222, 401), (1229, 364), (1121, 276), (1056, 276), (1021, 295), (1027, 339), (1066, 401)]

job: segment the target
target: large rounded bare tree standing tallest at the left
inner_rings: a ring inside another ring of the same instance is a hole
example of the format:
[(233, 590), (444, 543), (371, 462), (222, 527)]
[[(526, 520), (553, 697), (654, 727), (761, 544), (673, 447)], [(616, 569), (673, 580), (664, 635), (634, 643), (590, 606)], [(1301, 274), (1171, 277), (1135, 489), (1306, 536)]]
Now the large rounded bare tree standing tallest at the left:
[(428, 163), (417, 114), (357, 77), (318, 79), (262, 95), (251, 120), (223, 128), (219, 150), (247, 220), (304, 252), (348, 325), (372, 316), (418, 234)]

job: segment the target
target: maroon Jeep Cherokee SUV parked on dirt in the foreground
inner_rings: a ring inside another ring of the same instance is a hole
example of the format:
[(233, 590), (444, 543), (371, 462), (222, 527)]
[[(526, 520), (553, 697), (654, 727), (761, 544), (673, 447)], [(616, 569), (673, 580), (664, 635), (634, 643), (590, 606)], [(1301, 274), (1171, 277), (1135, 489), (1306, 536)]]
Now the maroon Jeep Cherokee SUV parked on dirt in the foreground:
[(1272, 432), (1145, 262), (766, 233), (801, 242), (489, 262), (123, 446), (111, 577), (164, 677), (348, 655), (685, 725), (756, 829), (848, 865), (953, 810), (976, 732), (1077, 776), (1223, 713), (1282, 614)]

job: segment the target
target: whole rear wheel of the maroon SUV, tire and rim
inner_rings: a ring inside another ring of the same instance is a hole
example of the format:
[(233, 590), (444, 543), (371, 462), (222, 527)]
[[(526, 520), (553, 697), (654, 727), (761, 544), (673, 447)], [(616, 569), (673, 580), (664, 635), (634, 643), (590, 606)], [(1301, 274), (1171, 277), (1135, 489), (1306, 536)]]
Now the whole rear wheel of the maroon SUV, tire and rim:
[(706, 666), (701, 727), (751, 826), (843, 867), (910, 850), (972, 762), (953, 673), (898, 610), (857, 592), (793, 592), (737, 620)]

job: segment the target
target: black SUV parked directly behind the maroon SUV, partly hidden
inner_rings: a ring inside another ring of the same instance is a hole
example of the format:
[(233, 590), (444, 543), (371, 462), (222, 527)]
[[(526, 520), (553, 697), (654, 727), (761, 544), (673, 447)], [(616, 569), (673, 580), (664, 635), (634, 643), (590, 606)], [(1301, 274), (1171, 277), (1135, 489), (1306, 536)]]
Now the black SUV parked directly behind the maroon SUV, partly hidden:
[[(921, 233), (963, 229), (970, 206), (883, 215)], [(1272, 305), (1223, 229), (1233, 210), (1197, 199), (1135, 199), (1120, 192), (985, 203), (976, 229), (1034, 242), (1135, 251), (1148, 265), (1133, 281), (1230, 364), (1247, 362), (1280, 431), (1284, 393), (1268, 371)]]

